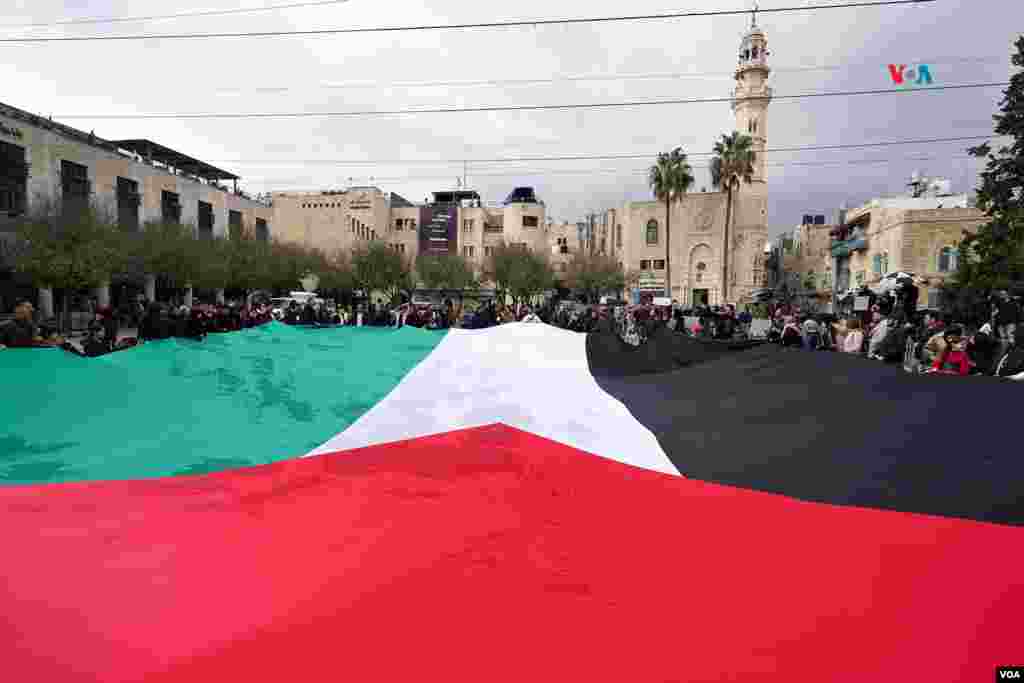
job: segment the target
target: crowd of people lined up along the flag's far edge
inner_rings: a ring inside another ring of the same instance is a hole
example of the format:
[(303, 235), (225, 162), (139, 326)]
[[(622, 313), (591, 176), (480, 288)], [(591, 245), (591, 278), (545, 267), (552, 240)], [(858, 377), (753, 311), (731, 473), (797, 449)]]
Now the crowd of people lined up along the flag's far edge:
[[(997, 293), (991, 314), (983, 325), (970, 327), (935, 311), (918, 314), (909, 300), (880, 296), (863, 311), (843, 316), (808, 314), (787, 306), (771, 307), (767, 341), (808, 351), (836, 351), (883, 362), (902, 362), (908, 371), (966, 376), (1014, 376), (1024, 373), (1024, 348), (1019, 345), (1021, 303), (1009, 293)], [(126, 316), (128, 319), (126, 321)], [(314, 327), (412, 326), (432, 330), (454, 327), (488, 328), (506, 323), (546, 323), (581, 333), (616, 333), (633, 345), (642, 344), (662, 327), (679, 334), (716, 340), (745, 339), (750, 312), (732, 306), (585, 305), (546, 302), (540, 307), (507, 306), (484, 301), (464, 311), (451, 299), (441, 304), (404, 303), (389, 307), (383, 301), (339, 306), (333, 301), (292, 301), (283, 310), (267, 302), (199, 304), (191, 307), (138, 302), (128, 311), (97, 307), (84, 339), (73, 345), (56, 330), (39, 326), (28, 301), (20, 302), (14, 319), (0, 326), (0, 347), (60, 346), (87, 356), (102, 355), (151, 340), (172, 337), (202, 340), (211, 333), (245, 330), (281, 319), (288, 325)], [(120, 338), (124, 323), (137, 326), (135, 337)]]

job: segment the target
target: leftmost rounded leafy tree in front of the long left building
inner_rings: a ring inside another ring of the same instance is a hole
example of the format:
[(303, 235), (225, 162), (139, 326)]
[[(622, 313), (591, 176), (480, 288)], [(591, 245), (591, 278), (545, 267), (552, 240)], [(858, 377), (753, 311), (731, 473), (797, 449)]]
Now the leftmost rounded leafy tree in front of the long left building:
[(44, 207), (18, 224), (16, 236), (15, 268), (43, 287), (62, 290), (65, 317), (71, 293), (102, 285), (125, 262), (122, 233), (93, 207)]

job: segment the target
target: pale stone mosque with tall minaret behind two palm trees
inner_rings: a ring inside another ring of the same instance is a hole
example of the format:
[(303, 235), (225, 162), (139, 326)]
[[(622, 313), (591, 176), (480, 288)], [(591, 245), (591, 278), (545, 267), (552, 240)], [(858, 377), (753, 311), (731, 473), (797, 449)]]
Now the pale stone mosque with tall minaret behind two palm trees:
[[(627, 270), (639, 271), (630, 299), (664, 296), (667, 263), (672, 268), (672, 298), (683, 305), (743, 303), (764, 283), (768, 242), (768, 185), (764, 150), (768, 138), (767, 39), (756, 25), (740, 43), (735, 70), (730, 130), (749, 135), (756, 154), (753, 182), (733, 193), (730, 244), (725, 244), (726, 194), (689, 193), (672, 204), (666, 220), (664, 202), (628, 202), (604, 212), (592, 229), (597, 251), (618, 258)], [(672, 230), (666, 243), (666, 223)], [(667, 259), (667, 247), (671, 249)], [(728, 283), (723, 263), (728, 258)]]

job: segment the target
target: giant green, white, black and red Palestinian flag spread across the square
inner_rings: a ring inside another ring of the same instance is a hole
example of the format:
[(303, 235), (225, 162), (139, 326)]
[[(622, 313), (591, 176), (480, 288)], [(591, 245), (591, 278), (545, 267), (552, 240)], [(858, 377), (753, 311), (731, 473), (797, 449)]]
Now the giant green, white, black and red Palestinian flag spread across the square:
[(522, 324), (8, 349), (0, 376), (10, 680), (1024, 664), (1014, 383)]

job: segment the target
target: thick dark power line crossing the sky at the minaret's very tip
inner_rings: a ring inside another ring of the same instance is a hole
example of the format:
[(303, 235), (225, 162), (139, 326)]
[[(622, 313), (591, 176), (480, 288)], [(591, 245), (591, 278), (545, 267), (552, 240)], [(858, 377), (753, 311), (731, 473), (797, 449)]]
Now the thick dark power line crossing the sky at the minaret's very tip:
[[(766, 14), (779, 12), (810, 11), (816, 9), (848, 9), (855, 7), (883, 7), (887, 5), (915, 5), (935, 0), (871, 0), (869, 2), (849, 2), (831, 5), (804, 5), (797, 7), (774, 7), (770, 9), (759, 9), (759, 12)], [(517, 19), (509, 22), (486, 22), (480, 24), (434, 24), (419, 26), (398, 26), (398, 27), (365, 27), (354, 29), (317, 29), (309, 31), (249, 31), (243, 33), (181, 33), (181, 34), (146, 34), (135, 36), (59, 36), (49, 38), (2, 38), (0, 43), (59, 43), (59, 42), (89, 42), (104, 40), (188, 40), (206, 38), (281, 38), (286, 36), (337, 36), (342, 34), (361, 33), (395, 33), (411, 31), (453, 31), (467, 29), (518, 29), (543, 26), (567, 26), (577, 24), (611, 24), (622, 22), (656, 22), (676, 18), (692, 18), (700, 16), (730, 16), (736, 14), (750, 14), (750, 9), (720, 9), (703, 11), (685, 12), (665, 12), (660, 14), (632, 14), (618, 16), (597, 16), (589, 18), (567, 18), (567, 19)]]

